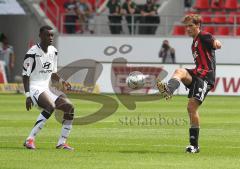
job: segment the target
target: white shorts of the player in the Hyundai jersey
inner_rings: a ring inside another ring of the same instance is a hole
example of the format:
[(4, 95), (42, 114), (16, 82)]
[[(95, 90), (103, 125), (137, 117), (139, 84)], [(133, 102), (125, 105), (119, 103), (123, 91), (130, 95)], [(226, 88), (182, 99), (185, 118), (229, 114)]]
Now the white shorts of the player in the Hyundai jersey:
[(63, 92), (57, 90), (54, 87), (41, 87), (41, 86), (35, 86), (35, 85), (31, 85), (30, 86), (30, 96), (32, 98), (32, 101), (34, 103), (35, 106), (37, 106), (37, 102), (38, 102), (38, 98), (40, 96), (40, 94), (42, 94), (43, 92), (45, 92), (48, 97), (50, 98), (50, 100), (55, 103), (55, 101), (57, 100), (57, 98), (61, 95), (64, 95)]

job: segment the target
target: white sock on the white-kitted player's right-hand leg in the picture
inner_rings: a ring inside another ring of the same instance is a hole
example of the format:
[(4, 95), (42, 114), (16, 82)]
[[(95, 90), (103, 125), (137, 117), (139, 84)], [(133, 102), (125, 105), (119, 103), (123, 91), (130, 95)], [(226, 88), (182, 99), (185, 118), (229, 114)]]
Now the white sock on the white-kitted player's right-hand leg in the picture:
[(62, 133), (61, 136), (59, 137), (58, 144), (65, 144), (66, 140), (70, 134), (70, 131), (72, 129), (72, 122), (73, 120), (64, 120), (63, 121), (63, 126), (62, 126)]

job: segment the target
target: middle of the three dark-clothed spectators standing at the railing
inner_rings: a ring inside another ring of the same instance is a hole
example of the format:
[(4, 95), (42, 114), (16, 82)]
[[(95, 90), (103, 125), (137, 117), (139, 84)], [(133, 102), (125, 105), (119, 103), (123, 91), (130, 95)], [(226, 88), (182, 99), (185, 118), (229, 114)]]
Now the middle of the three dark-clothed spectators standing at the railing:
[(126, 0), (122, 5), (122, 13), (126, 15), (126, 21), (128, 24), (128, 30), (130, 34), (135, 34), (136, 31), (136, 20), (137, 17), (134, 16), (137, 11), (137, 5), (132, 0)]

